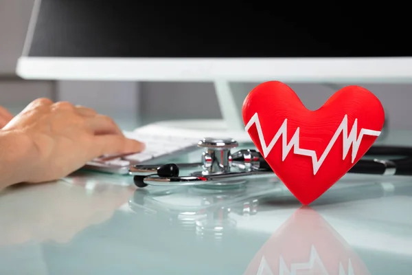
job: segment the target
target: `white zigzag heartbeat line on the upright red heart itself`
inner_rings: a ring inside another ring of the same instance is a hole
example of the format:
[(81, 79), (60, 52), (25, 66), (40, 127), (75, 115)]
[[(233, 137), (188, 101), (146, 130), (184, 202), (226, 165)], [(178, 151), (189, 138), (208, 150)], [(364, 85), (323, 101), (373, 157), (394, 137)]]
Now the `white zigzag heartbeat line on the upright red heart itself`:
[(321, 168), (321, 165), (325, 161), (325, 158), (330, 153), (330, 150), (334, 146), (334, 143), (338, 139), (339, 135), (341, 135), (341, 133), (343, 134), (342, 159), (344, 160), (346, 158), (347, 153), (349, 152), (349, 149), (352, 146), (352, 163), (356, 159), (356, 155), (358, 153), (359, 146), (361, 145), (363, 135), (374, 135), (374, 136), (380, 135), (380, 131), (374, 131), (374, 130), (362, 128), (361, 132), (356, 138), (356, 135), (358, 132), (358, 119), (357, 118), (352, 126), (352, 130), (350, 131), (350, 134), (347, 135), (347, 128), (348, 128), (347, 115), (345, 115), (338, 129), (336, 129), (336, 132), (334, 133), (328, 146), (326, 146), (325, 151), (323, 151), (323, 154), (321, 155), (321, 157), (317, 159), (317, 155), (315, 151), (299, 148), (299, 128), (300, 127), (297, 127), (295, 134), (293, 135), (292, 139), (288, 143), (287, 141), (288, 119), (287, 118), (285, 118), (282, 126), (280, 126), (279, 130), (277, 131), (277, 133), (275, 134), (271, 143), (268, 146), (266, 146), (266, 142), (264, 140), (264, 135), (262, 132), (262, 126), (260, 126), (260, 120), (259, 120), (258, 113), (255, 113), (252, 116), (251, 120), (249, 120), (249, 122), (247, 123), (245, 127), (246, 131), (249, 131), (249, 129), (251, 128), (251, 126), (253, 126), (253, 124), (256, 125), (256, 129), (258, 130), (259, 141), (260, 141), (260, 145), (262, 146), (262, 151), (263, 151), (262, 153), (264, 157), (267, 157), (268, 154), (271, 153), (273, 146), (275, 146), (277, 140), (279, 140), (280, 136), (282, 135), (282, 162), (286, 159), (290, 150), (293, 147), (293, 153), (295, 153), (295, 155), (306, 155), (308, 157), (312, 157), (313, 175), (316, 175), (319, 168)]

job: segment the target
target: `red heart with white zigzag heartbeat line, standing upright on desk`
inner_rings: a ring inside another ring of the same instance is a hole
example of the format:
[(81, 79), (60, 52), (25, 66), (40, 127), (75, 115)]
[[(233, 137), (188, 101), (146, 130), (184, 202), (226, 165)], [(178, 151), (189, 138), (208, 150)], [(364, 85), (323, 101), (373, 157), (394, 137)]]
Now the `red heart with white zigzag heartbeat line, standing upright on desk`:
[(320, 197), (365, 155), (385, 121), (380, 100), (363, 87), (344, 87), (312, 111), (278, 81), (255, 87), (242, 116), (266, 162), (303, 204)]

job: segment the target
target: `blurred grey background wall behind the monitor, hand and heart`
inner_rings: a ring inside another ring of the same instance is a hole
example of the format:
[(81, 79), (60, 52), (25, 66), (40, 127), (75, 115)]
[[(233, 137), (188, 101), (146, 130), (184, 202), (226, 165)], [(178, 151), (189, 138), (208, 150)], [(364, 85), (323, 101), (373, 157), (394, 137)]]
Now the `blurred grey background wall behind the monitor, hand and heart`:
[[(0, 104), (14, 113), (35, 98), (45, 96), (95, 108), (113, 116), (125, 129), (155, 120), (220, 118), (212, 83), (54, 82), (17, 78), (14, 69), (23, 50), (33, 3), (34, 0), (0, 0)], [(236, 87), (244, 94), (256, 84)], [(290, 86), (309, 109), (317, 109), (343, 85)], [(384, 104), (391, 129), (412, 129), (411, 85), (363, 86)]]

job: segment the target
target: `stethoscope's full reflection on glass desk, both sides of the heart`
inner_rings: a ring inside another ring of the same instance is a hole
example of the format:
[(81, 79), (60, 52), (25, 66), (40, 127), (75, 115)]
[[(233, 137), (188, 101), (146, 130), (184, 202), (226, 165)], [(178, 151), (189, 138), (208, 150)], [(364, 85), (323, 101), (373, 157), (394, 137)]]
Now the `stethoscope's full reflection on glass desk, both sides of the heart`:
[[(412, 192), (409, 181), (369, 182), (344, 179), (331, 188), (314, 205), (334, 205), (363, 201)], [(262, 208), (264, 204), (264, 208)], [(198, 237), (222, 239), (237, 229), (242, 217), (271, 211), (283, 206), (298, 206), (299, 202), (277, 182), (254, 181), (252, 185), (231, 188), (199, 186), (138, 188), (129, 200), (129, 208), (156, 219), (168, 221), (177, 230), (190, 231)]]

